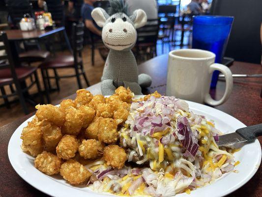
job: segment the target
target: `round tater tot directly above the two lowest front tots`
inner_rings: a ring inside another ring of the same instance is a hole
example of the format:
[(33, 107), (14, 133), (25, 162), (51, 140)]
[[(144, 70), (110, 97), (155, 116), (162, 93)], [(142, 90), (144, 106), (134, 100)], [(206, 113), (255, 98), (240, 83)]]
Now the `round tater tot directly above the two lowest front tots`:
[(75, 157), (79, 142), (74, 135), (64, 135), (56, 148), (58, 158), (68, 160)]

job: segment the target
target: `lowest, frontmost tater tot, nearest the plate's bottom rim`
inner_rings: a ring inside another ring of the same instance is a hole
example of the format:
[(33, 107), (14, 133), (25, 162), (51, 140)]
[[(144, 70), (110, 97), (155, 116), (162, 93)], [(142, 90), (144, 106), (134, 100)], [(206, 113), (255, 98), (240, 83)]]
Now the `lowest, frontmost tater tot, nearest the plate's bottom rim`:
[(91, 173), (84, 167), (84, 165), (72, 159), (61, 165), (60, 174), (72, 185), (87, 183), (91, 176)]

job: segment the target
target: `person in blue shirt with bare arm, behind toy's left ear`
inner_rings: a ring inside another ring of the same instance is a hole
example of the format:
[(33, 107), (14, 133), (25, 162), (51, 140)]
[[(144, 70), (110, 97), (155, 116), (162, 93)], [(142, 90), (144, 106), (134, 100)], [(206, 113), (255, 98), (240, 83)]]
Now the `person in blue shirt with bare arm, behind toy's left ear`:
[(99, 35), (101, 37), (101, 29), (99, 29), (99, 27), (93, 23), (93, 18), (91, 16), (91, 12), (94, 9), (93, 4), (95, 1), (96, 0), (84, 0), (84, 3), (81, 8), (81, 15), (87, 29), (91, 33), (94, 33), (95, 35)]

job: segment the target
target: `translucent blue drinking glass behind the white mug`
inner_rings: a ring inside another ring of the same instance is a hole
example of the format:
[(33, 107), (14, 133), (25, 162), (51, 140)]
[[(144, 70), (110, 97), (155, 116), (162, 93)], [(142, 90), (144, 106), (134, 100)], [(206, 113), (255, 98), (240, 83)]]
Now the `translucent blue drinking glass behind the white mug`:
[[(216, 54), (215, 63), (222, 63), (228, 44), (234, 17), (231, 16), (194, 16), (193, 49), (203, 49)], [(219, 71), (213, 73), (211, 88), (215, 88)]]

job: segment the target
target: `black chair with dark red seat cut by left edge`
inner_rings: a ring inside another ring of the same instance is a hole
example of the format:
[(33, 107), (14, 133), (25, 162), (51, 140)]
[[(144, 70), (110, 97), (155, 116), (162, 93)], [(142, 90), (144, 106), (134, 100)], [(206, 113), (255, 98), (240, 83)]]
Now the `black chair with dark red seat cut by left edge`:
[[(33, 86), (36, 85), (37, 93), (40, 97), (41, 103), (44, 103), (41, 87), (38, 81), (38, 76), (36, 73), (37, 67), (30, 67), (30, 66), (20, 66), (15, 67), (14, 59), (12, 57), (12, 51), (9, 46), (9, 42), (7, 39), (6, 33), (0, 33), (0, 41), (4, 43), (4, 45), (0, 46), (0, 50), (5, 50), (5, 54), (0, 56), (0, 60), (7, 60), (4, 63), (0, 64), (0, 91), (1, 96), (4, 100), (4, 104), (7, 108), (10, 107), (10, 102), (8, 100), (9, 97), (18, 96), (20, 99), (20, 103), (22, 105), (23, 111), (25, 114), (29, 113), (28, 107), (26, 105), (26, 100), (30, 103), (36, 105), (37, 103), (33, 100), (29, 99), (28, 90)], [(34, 78), (30, 82), (29, 85), (25, 82), (27, 78)], [(13, 85), (15, 86), (15, 90), (13, 89)], [(9, 86), (11, 93), (6, 94), (4, 86)], [(27, 95), (27, 98), (25, 97)]]

